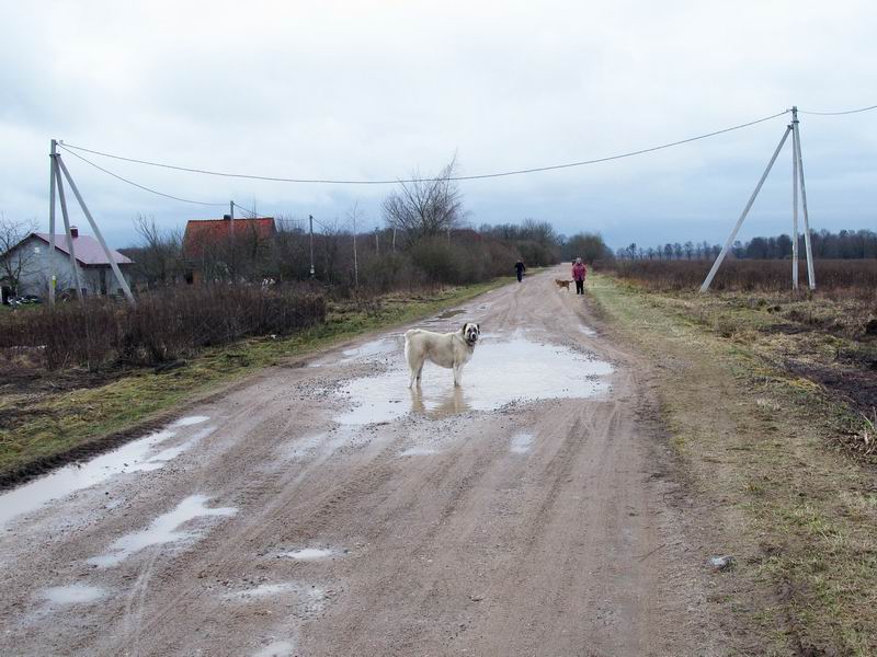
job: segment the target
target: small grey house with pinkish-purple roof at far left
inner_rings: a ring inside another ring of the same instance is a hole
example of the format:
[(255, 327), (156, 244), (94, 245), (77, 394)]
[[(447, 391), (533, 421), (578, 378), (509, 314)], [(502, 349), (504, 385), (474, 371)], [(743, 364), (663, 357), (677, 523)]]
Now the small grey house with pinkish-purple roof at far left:
[[(101, 243), (90, 235), (79, 234), (76, 227), (70, 228), (70, 233), (82, 292), (84, 295), (122, 295), (122, 288), (118, 286)], [(111, 250), (111, 255), (122, 270), (125, 280), (130, 285), (129, 268), (134, 263), (117, 251)], [(10, 293), (35, 295), (45, 298), (48, 295), (49, 279), (53, 275), (57, 295), (76, 291), (73, 265), (70, 262), (67, 237), (64, 233), (55, 235), (54, 252), (49, 249), (48, 233), (31, 233), (0, 257), (10, 265), (0, 269), (0, 277), (3, 277), (4, 298)], [(13, 272), (14, 279), (10, 279), (9, 270)]]

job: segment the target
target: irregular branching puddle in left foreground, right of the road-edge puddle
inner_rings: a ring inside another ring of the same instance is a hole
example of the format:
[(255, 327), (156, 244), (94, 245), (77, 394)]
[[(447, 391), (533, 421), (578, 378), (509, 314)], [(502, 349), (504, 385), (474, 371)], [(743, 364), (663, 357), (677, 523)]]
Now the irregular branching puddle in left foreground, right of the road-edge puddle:
[(164, 545), (197, 538), (200, 533), (197, 530), (180, 530), (180, 527), (190, 520), (208, 516), (234, 516), (237, 512), (234, 507), (208, 508), (206, 506), (208, 500), (206, 495), (186, 497), (175, 509), (156, 518), (148, 528), (122, 537), (110, 546), (106, 554), (90, 558), (88, 563), (100, 567), (115, 566), (135, 552), (151, 545)]

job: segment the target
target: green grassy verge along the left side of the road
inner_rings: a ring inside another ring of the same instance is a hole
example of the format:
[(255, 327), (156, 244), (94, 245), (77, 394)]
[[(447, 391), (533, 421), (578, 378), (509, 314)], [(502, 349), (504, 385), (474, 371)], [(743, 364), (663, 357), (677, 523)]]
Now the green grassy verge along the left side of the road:
[(178, 369), (132, 370), (106, 384), (67, 392), (4, 394), (0, 414), (14, 413), (18, 422), (14, 428), (0, 429), (0, 485), (105, 448), (262, 368), (433, 314), (510, 280), (448, 288), (429, 297), (388, 295), (366, 309), (333, 304), (320, 326), (285, 338), (253, 338), (207, 349)]

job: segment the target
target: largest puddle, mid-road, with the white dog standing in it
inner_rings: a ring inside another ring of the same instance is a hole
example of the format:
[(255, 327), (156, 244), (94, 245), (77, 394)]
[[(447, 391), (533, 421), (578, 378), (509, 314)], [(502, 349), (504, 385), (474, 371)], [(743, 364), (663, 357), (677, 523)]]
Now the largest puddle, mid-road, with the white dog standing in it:
[[(400, 354), (401, 356), (401, 354)], [(508, 341), (486, 339), (454, 388), (449, 369), (428, 362), (420, 391), (408, 388), (401, 358), (376, 377), (353, 379), (340, 390), (354, 406), (335, 416), (346, 425), (390, 422), (409, 413), (442, 418), (466, 411), (491, 411), (512, 402), (592, 397), (608, 390), (608, 362), (568, 347), (533, 342), (521, 333)]]

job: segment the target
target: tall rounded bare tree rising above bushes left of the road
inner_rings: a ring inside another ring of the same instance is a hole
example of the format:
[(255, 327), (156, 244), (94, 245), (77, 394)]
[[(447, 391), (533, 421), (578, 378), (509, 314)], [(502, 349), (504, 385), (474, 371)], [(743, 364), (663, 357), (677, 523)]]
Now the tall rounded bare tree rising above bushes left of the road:
[(457, 226), (464, 217), (463, 194), (453, 181), (456, 157), (433, 177), (414, 173), (412, 182), (399, 183), (384, 199), (384, 219), (391, 229), (401, 231), (409, 242), (441, 235)]

